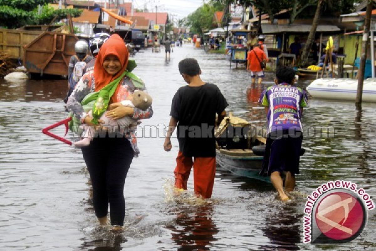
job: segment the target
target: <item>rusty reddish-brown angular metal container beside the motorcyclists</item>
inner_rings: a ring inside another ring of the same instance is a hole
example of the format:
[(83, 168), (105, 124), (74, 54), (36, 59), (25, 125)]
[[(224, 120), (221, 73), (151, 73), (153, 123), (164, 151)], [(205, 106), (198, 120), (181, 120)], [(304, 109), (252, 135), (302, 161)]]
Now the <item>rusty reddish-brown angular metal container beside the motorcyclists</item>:
[(71, 56), (75, 55), (74, 34), (43, 32), (24, 46), (23, 65), (31, 73), (67, 75)]

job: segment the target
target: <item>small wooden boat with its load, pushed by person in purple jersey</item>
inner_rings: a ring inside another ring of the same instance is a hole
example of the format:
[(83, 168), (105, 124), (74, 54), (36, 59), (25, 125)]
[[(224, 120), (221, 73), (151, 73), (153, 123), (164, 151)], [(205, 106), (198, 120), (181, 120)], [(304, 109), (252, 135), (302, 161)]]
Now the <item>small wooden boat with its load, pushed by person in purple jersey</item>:
[(264, 157), (252, 151), (254, 146), (266, 143), (266, 130), (252, 125), (230, 113), (215, 130), (218, 166), (237, 176), (270, 183), (270, 178), (259, 175)]

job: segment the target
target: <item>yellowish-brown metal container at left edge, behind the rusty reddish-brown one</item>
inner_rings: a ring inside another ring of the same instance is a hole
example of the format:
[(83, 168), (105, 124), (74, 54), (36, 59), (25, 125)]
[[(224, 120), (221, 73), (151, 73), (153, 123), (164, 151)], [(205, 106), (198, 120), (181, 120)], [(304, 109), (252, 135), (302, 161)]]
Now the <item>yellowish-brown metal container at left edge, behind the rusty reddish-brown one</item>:
[(23, 46), (41, 34), (35, 30), (0, 29), (0, 50), (8, 51), (11, 59), (23, 59)]

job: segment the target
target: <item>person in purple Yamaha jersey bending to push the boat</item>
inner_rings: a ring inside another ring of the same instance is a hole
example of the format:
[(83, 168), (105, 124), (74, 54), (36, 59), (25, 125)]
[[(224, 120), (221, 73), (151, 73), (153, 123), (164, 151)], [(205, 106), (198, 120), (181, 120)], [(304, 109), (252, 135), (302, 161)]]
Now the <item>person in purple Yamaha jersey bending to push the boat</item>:
[(286, 173), (285, 190), (295, 187), (295, 174), (299, 173), (300, 148), (302, 147), (303, 107), (307, 106), (307, 95), (294, 86), (295, 71), (291, 67), (279, 67), (276, 85), (262, 92), (259, 103), (265, 106), (268, 132), (264, 161), (260, 175), (270, 175), (270, 180), (282, 201), (290, 199), (284, 189), (281, 173)]

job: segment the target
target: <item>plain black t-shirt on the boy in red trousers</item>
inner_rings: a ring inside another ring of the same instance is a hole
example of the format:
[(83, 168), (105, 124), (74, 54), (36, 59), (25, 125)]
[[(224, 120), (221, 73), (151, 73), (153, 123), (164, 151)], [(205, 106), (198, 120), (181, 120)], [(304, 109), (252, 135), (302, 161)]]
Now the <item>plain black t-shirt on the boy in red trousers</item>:
[(217, 85), (183, 86), (177, 90), (170, 116), (177, 119), (177, 139), (186, 157), (215, 157), (215, 114), (228, 106)]

